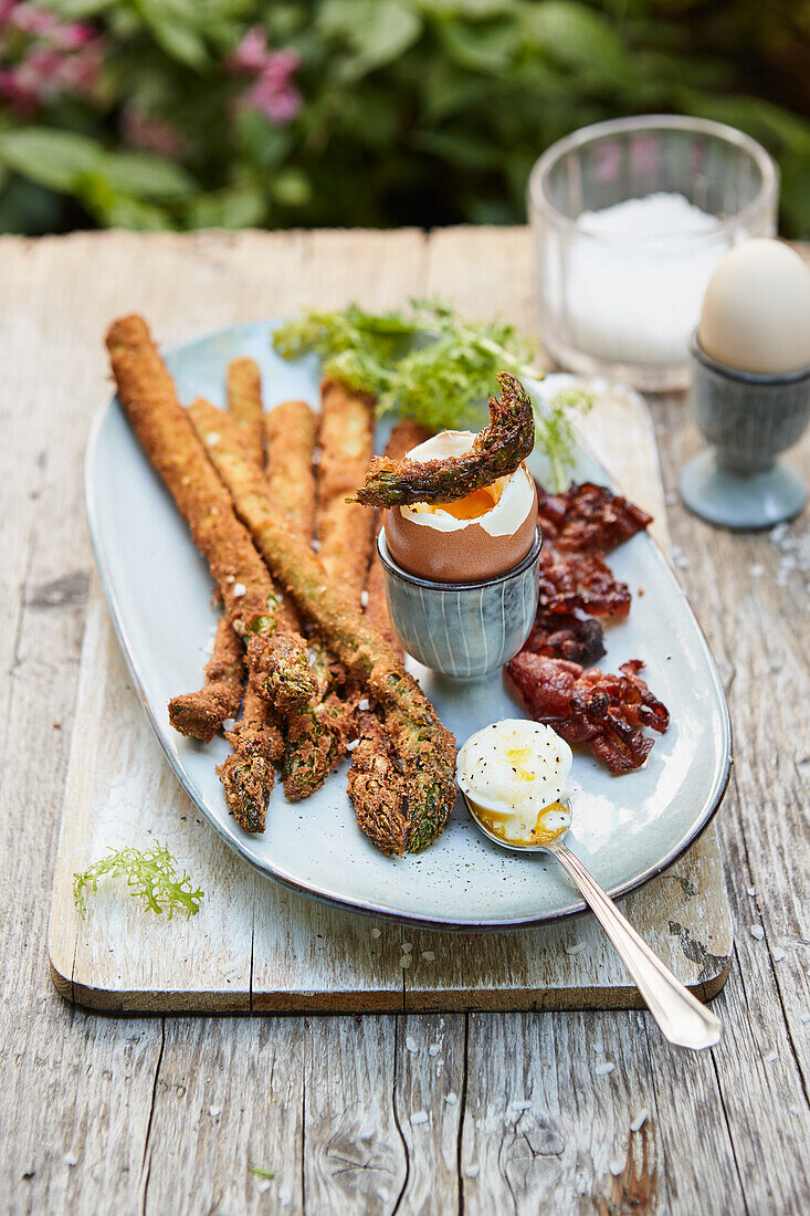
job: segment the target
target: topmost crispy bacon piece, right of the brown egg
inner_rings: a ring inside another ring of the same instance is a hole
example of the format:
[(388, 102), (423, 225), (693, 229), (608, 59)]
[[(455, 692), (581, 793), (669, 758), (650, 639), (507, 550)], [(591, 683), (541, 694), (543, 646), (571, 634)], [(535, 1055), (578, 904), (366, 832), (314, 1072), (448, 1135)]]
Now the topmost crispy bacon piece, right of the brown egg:
[(564, 494), (538, 485), (538, 503), (542, 535), (561, 553), (609, 553), (652, 523), (641, 507), (592, 482), (574, 483)]

